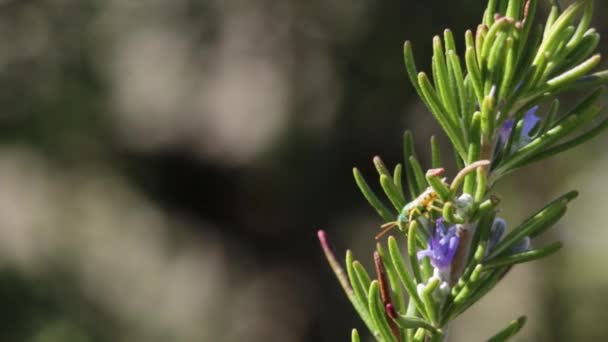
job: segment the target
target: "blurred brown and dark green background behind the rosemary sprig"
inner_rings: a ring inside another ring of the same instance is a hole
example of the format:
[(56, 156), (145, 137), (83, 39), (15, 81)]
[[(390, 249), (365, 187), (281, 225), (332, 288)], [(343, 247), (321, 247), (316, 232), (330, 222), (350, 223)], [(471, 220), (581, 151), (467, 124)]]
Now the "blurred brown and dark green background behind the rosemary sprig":
[[(402, 44), (428, 70), (431, 37), (462, 46), (484, 6), (0, 1), (0, 341), (348, 340), (363, 324), (316, 230), (370, 264), (380, 221), (352, 166), (399, 162), (406, 128), (425, 165), (431, 134), (447, 146)], [(499, 186), (509, 222), (582, 194), (546, 238), (566, 248), (517, 267), (453, 341), (521, 313), (518, 341), (608, 338), (606, 143)]]

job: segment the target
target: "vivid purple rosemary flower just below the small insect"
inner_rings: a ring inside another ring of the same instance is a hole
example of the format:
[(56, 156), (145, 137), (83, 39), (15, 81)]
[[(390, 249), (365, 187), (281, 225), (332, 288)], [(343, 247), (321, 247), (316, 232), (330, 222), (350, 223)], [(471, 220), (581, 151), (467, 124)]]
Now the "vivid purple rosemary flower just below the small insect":
[(418, 259), (429, 257), (433, 267), (440, 271), (447, 270), (458, 249), (458, 242), (456, 226), (448, 229), (443, 218), (440, 218), (435, 224), (435, 232), (429, 239), (427, 249), (418, 252)]

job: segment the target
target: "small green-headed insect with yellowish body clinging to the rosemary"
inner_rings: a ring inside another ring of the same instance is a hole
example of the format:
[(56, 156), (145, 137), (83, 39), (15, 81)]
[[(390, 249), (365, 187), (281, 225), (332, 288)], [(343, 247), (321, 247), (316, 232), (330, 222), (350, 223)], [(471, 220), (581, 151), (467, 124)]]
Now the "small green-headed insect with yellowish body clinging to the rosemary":
[[(431, 169), (427, 171), (428, 174), (431, 175), (442, 175), (444, 173), (444, 169)], [(397, 217), (397, 220), (393, 222), (388, 222), (380, 226), (382, 230), (378, 235), (376, 235), (376, 239), (381, 238), (384, 234), (388, 233), (393, 227), (399, 226), (401, 231), (404, 230), (403, 225), (411, 222), (414, 216), (428, 214), (432, 210), (436, 210), (441, 212), (442, 209), (437, 207), (435, 204), (442, 204), (443, 202), (439, 198), (439, 195), (433, 188), (426, 188), (418, 197), (414, 198), (411, 202), (406, 204), (403, 209), (401, 209), (401, 213)]]

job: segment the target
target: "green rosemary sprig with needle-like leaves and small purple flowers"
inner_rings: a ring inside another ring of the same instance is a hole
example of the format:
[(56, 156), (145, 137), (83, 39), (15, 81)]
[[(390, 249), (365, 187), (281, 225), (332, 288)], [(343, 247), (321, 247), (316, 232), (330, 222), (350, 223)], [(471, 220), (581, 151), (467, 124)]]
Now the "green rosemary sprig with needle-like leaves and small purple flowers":
[[(391, 172), (374, 158), (387, 202), (353, 170), (361, 192), (386, 221), (376, 238), (390, 234), (385, 244), (377, 243), (374, 274), (350, 251), (343, 268), (326, 233), (318, 233), (331, 268), (378, 341), (446, 341), (450, 322), (514, 265), (562, 247), (532, 247), (530, 240), (566, 213), (576, 191), (507, 231), (493, 188), (512, 171), (576, 147), (608, 126), (599, 118), (608, 71), (593, 72), (600, 56), (594, 52), (599, 35), (589, 27), (592, 0), (563, 10), (554, 1), (544, 25), (535, 24), (537, 5), (538, 0), (489, 0), (476, 32), (465, 33), (464, 58), (450, 30), (434, 37), (432, 78), (418, 72), (412, 45), (405, 43), (409, 78), (449, 138), (458, 172), (451, 181), (444, 177), (433, 137), (425, 171), (410, 132), (404, 134), (403, 165)], [(590, 93), (562, 110), (558, 96), (572, 90)], [(489, 340), (507, 340), (525, 320), (512, 321)], [(356, 329), (352, 341), (359, 341)]]

